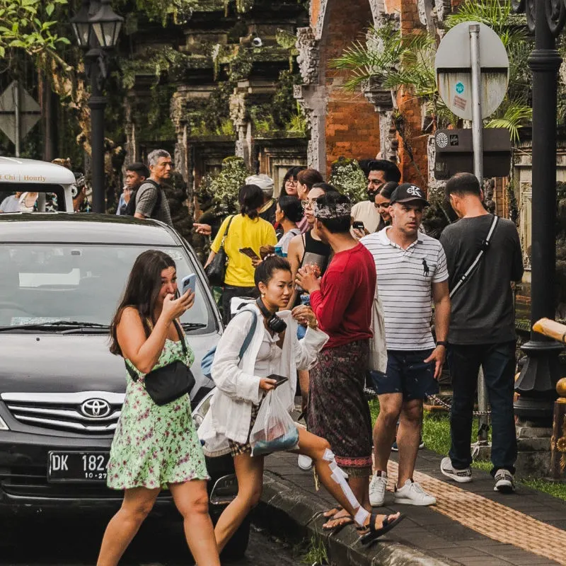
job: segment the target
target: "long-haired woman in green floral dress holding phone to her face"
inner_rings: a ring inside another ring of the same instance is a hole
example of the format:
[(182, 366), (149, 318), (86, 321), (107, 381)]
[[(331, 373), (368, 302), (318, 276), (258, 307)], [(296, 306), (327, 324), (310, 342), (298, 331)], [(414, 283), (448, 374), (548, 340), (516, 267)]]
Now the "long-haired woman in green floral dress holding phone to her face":
[(139, 379), (127, 376), (125, 403), (118, 421), (108, 486), (124, 490), (122, 507), (106, 528), (97, 566), (115, 566), (154, 506), (162, 489), (171, 495), (184, 519), (185, 536), (197, 565), (219, 566), (218, 548), (208, 513), (207, 468), (192, 421), (188, 395), (156, 405), (144, 388), (153, 369), (194, 355), (177, 323), (195, 301), (187, 291), (175, 299), (175, 262), (149, 250), (137, 258), (124, 298), (110, 327), (110, 352), (125, 358)]

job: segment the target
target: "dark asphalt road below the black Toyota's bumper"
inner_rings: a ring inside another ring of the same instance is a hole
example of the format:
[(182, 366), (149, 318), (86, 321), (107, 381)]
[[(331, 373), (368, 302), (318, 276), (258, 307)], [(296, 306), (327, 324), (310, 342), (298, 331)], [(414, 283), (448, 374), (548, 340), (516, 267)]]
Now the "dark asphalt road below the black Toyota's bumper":
[[(92, 566), (106, 519), (28, 516), (0, 519), (1, 566)], [(180, 521), (148, 519), (120, 566), (191, 566)], [(243, 560), (222, 560), (223, 566), (299, 566), (301, 557), (252, 527)], [(304, 565), (302, 565), (304, 566)]]

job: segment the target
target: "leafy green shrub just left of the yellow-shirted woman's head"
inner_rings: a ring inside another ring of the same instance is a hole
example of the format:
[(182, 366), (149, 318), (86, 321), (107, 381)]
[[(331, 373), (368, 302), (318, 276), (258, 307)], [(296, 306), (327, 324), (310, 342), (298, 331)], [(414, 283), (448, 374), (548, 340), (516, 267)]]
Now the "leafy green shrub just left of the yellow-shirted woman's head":
[(226, 216), (238, 212), (238, 194), (249, 175), (241, 157), (226, 157), (218, 175), (207, 175), (199, 187), (199, 200), (212, 198), (216, 211)]

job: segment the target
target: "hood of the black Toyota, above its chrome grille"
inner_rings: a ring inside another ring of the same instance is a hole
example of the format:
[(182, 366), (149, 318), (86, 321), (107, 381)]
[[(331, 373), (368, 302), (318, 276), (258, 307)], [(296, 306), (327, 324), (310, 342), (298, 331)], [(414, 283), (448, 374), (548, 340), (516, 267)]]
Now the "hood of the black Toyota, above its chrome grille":
[[(200, 360), (219, 335), (189, 335), (195, 352), (192, 372), (196, 385), (212, 387), (200, 371)], [(108, 335), (0, 333), (0, 393), (124, 393), (124, 360), (110, 354)], [(129, 378), (128, 378), (129, 379)]]

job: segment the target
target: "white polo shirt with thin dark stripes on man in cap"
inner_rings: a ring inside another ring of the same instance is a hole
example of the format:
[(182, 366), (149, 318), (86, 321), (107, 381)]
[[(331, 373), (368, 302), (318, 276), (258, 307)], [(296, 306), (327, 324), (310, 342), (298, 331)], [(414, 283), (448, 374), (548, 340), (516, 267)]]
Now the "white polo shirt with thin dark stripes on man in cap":
[(392, 242), (391, 226), (360, 240), (374, 256), (388, 350), (434, 348), (432, 284), (448, 279), (441, 243), (427, 234), (406, 250)]

